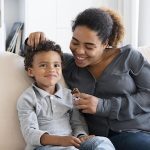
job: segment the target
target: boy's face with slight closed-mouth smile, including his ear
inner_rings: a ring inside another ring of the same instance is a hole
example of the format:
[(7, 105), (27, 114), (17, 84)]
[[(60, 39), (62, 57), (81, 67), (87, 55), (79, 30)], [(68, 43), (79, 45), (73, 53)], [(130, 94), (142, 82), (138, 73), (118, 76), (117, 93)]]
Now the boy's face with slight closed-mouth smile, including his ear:
[(55, 88), (62, 76), (60, 55), (55, 51), (37, 53), (32, 67), (28, 68), (28, 75), (34, 77), (38, 87), (44, 90)]

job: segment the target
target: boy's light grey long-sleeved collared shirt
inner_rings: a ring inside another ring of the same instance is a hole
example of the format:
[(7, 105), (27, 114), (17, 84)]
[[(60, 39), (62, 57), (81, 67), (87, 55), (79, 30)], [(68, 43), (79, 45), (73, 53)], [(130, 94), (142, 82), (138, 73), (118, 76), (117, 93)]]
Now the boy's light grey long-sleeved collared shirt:
[(40, 138), (46, 132), (50, 135), (87, 134), (83, 117), (73, 107), (71, 91), (60, 84), (56, 89), (51, 95), (32, 84), (18, 100), (18, 116), (28, 150), (41, 146)]

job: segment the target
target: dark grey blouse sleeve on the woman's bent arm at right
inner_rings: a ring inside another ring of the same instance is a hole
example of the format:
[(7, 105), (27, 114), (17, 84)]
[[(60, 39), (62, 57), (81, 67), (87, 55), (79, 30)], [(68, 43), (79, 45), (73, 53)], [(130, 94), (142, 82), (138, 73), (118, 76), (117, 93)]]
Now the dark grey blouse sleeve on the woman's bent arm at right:
[(122, 121), (150, 112), (150, 64), (136, 51), (132, 52), (128, 64), (136, 91), (109, 99), (100, 98), (96, 115)]

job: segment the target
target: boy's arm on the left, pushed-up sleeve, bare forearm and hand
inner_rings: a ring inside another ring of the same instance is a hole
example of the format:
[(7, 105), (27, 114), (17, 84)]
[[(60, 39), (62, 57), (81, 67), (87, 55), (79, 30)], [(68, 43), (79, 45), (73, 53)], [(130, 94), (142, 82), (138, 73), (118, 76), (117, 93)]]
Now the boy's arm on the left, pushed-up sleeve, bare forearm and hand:
[[(37, 108), (36, 108), (37, 107)], [(31, 91), (25, 91), (17, 102), (18, 117), (21, 131), (27, 144), (32, 146), (59, 145), (79, 147), (81, 141), (73, 136), (49, 135), (39, 129), (37, 120), (38, 106), (36, 97)]]

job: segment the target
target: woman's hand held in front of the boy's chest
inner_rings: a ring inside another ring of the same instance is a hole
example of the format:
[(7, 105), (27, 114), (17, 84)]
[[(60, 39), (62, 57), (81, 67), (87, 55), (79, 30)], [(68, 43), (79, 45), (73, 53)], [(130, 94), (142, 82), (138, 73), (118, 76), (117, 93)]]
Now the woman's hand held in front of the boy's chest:
[(95, 114), (98, 98), (89, 94), (80, 93), (74, 94), (75, 97), (79, 97), (78, 100), (75, 100), (75, 106), (80, 109), (83, 113)]

